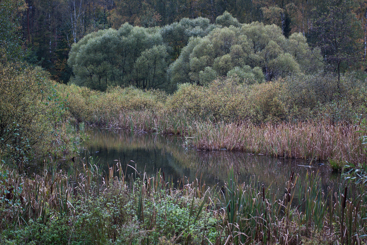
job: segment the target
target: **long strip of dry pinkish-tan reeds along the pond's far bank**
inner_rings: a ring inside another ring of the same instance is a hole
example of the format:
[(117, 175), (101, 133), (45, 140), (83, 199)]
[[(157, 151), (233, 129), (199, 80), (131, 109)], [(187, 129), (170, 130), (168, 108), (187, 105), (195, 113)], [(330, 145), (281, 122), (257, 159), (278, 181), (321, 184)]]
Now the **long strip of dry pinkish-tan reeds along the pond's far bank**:
[(246, 151), (283, 158), (346, 162), (367, 161), (361, 144), (366, 125), (331, 120), (298, 123), (261, 123), (237, 120), (232, 123), (193, 118), (185, 112), (124, 111), (106, 117), (108, 127), (141, 132), (185, 136), (185, 143), (197, 149)]

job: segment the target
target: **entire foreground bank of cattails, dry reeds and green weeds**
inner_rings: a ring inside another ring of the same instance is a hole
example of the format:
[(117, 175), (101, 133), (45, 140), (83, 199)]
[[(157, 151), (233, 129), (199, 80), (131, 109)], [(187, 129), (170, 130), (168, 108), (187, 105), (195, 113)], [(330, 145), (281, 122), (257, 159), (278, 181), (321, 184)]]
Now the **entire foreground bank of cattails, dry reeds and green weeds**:
[[(233, 169), (224, 186), (212, 188), (200, 179), (175, 188), (163, 172), (133, 178), (119, 162), (107, 173), (93, 161), (69, 172), (45, 164), (42, 176), (20, 176), (4, 165), (1, 173), (0, 239), (14, 244), (367, 242), (366, 185), (343, 181), (325, 190), (313, 172), (305, 181), (292, 173), (275, 191), (239, 182)], [(61, 228), (51, 234), (55, 222)]]

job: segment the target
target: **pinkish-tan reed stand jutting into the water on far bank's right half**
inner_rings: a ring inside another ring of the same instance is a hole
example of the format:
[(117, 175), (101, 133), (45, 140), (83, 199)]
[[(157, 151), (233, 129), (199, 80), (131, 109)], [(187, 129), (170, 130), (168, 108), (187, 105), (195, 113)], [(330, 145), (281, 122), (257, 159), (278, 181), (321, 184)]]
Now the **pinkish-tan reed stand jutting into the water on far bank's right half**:
[(359, 126), (350, 123), (197, 123), (192, 142), (199, 149), (249, 151), (271, 156), (338, 162), (366, 162)]

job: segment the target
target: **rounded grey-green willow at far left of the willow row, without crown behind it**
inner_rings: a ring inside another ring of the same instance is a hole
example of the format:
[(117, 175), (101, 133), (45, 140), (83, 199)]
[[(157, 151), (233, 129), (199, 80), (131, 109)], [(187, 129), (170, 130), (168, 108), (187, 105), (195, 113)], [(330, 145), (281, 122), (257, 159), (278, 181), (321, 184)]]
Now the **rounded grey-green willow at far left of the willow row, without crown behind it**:
[[(153, 52), (157, 50), (156, 46), (161, 53)], [(144, 89), (158, 88), (163, 87), (167, 80), (162, 78), (163, 75), (157, 75), (162, 73), (163, 68), (157, 69), (156, 75), (149, 76), (149, 81), (143, 81), (142, 77), (153, 66), (164, 64), (164, 69), (167, 69), (166, 61), (161, 61), (166, 59), (166, 53), (167, 47), (159, 28), (124, 24), (118, 30), (91, 33), (73, 44), (68, 64), (75, 75), (72, 82), (92, 89), (130, 85)]]

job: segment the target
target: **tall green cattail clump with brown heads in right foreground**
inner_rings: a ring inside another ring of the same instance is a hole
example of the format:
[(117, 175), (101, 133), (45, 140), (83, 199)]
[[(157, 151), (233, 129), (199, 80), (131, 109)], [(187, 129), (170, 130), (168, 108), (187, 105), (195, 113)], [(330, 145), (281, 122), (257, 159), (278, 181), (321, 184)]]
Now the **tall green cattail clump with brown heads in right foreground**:
[(282, 191), (270, 193), (264, 186), (237, 183), (233, 172), (229, 173), (226, 188), (217, 192), (224, 231), (220, 240), (225, 244), (300, 244), (323, 233), (322, 240), (313, 238), (315, 244), (366, 241), (365, 186), (348, 193), (344, 183), (325, 193), (315, 173), (310, 173), (299, 186), (303, 195), (295, 200), (295, 187), (300, 185), (297, 176), (292, 174), (287, 183), (283, 198), (277, 199)]

